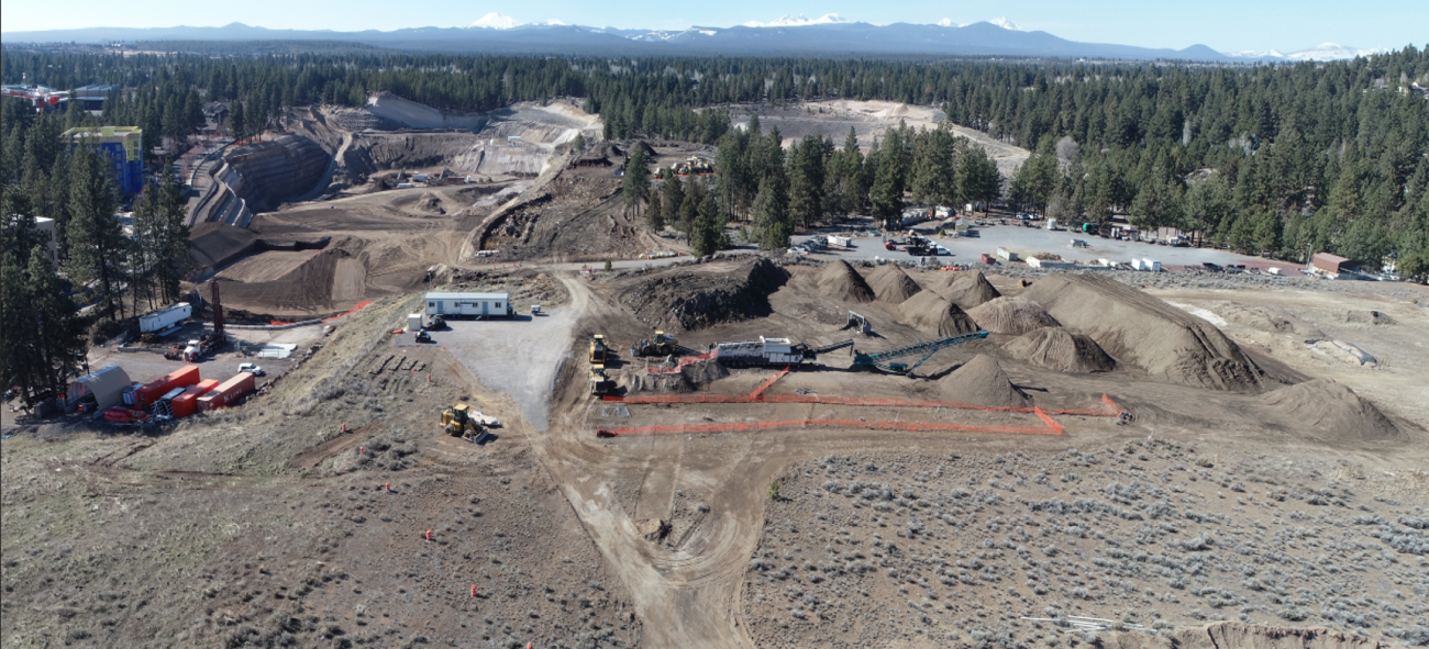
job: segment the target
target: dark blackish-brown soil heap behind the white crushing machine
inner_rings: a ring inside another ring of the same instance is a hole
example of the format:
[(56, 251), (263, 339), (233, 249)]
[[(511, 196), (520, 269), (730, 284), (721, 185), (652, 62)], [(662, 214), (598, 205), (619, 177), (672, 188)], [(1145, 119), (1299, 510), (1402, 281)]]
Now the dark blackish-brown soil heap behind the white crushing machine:
[(694, 331), (769, 315), (769, 294), (787, 280), (789, 271), (760, 257), (727, 274), (710, 270), (660, 274), (620, 301), (650, 327)]

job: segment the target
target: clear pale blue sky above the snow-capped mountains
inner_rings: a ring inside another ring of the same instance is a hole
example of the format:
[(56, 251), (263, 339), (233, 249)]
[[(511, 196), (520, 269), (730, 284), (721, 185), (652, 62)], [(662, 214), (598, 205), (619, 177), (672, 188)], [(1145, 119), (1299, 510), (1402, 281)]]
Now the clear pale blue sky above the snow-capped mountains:
[[(60, 10), (63, 7), (63, 10)], [(221, 26), (233, 21), (272, 29), (392, 30), (464, 26), (489, 11), (519, 21), (559, 19), (572, 24), (683, 29), (729, 27), (782, 14), (837, 13), (875, 24), (973, 23), (1006, 16), (1023, 30), (1043, 30), (1069, 40), (1143, 47), (1206, 44), (1220, 51), (1293, 51), (1335, 41), (1359, 48), (1403, 47), (1429, 41), (1426, 0), (1005, 0), (999, 3), (899, 1), (892, 4), (827, 1), (723, 0), (702, 3), (549, 0), (530, 3), (406, 4), (390, 0), (289, 1), (246, 0), (66, 0), (0, 3), (4, 31), (74, 27)]]

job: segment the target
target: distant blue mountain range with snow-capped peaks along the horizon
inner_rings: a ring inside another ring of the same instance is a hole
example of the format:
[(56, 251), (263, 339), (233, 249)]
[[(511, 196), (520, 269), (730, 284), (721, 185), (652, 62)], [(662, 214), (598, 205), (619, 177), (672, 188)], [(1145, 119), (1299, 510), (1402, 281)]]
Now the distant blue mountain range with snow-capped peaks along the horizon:
[(1206, 46), (1182, 50), (1080, 43), (1046, 31), (1023, 31), (1007, 19), (957, 24), (869, 24), (839, 14), (817, 19), (785, 16), (767, 23), (684, 30), (586, 27), (560, 20), (519, 23), (492, 13), (467, 27), (416, 27), (392, 31), (273, 30), (231, 23), (223, 27), (86, 27), (49, 31), (4, 31), (6, 44), (139, 41), (244, 41), (323, 40), (349, 41), (416, 51), (506, 54), (759, 54), (759, 56), (990, 56), (1026, 58), (1180, 60), (1206, 63), (1299, 61), (1352, 58), (1369, 50), (1325, 43), (1312, 50), (1280, 54), (1223, 54)]

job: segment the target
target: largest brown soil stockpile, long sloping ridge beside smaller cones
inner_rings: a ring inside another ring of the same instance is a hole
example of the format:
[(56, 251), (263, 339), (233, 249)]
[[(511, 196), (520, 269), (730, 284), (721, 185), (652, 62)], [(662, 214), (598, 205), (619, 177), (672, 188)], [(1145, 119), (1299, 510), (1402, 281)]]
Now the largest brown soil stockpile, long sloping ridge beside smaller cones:
[(1092, 337), (1122, 365), (1198, 388), (1260, 391), (1265, 372), (1210, 322), (1109, 277), (1049, 275), (1020, 297)]

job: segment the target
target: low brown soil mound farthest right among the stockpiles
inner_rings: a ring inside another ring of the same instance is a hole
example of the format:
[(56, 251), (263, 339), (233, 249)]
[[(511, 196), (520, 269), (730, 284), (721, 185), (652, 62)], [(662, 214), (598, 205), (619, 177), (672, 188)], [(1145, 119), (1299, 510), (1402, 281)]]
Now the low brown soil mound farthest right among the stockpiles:
[(1392, 439), (1399, 428), (1370, 404), (1345, 385), (1328, 378), (1276, 389), (1260, 397), (1270, 409), (1289, 417), (1298, 425), (1336, 439)]

